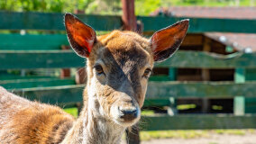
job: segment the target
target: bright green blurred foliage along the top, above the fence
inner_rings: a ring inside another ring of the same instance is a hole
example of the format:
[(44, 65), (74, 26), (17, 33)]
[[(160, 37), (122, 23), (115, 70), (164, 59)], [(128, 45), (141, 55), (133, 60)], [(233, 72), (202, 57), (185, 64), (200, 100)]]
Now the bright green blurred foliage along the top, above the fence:
[[(135, 0), (135, 14), (148, 15), (169, 6), (255, 6), (254, 0)], [(71, 12), (122, 14), (121, 0), (0, 0), (0, 10), (15, 12)]]

